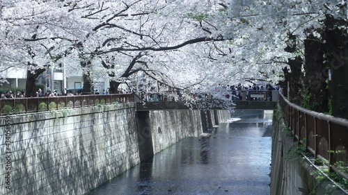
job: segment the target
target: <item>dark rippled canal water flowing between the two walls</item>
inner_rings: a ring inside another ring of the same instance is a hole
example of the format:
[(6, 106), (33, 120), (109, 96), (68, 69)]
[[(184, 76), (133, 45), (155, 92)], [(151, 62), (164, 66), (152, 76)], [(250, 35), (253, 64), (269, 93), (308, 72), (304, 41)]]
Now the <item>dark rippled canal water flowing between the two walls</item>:
[(210, 137), (189, 137), (88, 195), (267, 195), (272, 112), (239, 110)]

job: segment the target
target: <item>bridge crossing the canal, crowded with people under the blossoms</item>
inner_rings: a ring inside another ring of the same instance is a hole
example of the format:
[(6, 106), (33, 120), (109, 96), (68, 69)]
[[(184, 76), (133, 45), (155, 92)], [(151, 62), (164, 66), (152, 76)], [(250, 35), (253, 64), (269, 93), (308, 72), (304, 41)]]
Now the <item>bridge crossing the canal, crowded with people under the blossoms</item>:
[[(227, 110), (230, 108), (234, 109), (253, 109), (253, 110), (274, 110), (278, 102), (278, 91), (246, 91), (236, 90), (231, 92), (224, 92), (221, 94), (213, 94), (211, 99), (203, 97), (201, 94), (194, 95), (193, 101), (187, 102), (182, 101), (180, 96), (174, 94), (167, 94), (166, 97), (163, 95), (161, 98), (155, 98), (155, 101), (141, 101), (140, 97), (136, 96), (136, 110), (182, 110), (182, 109), (193, 109), (193, 110)], [(214, 99), (214, 95), (219, 96), (218, 99)], [(222, 96), (222, 97), (221, 97)], [(144, 98), (142, 98), (144, 99)]]

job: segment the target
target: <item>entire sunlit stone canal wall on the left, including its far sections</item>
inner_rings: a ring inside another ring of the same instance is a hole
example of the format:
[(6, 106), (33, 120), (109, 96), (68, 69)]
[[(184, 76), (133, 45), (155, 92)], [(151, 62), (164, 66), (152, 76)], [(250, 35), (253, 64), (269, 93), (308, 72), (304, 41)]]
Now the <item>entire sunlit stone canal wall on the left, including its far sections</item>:
[[(211, 118), (204, 113), (136, 112), (135, 103), (127, 103), (11, 115), (8, 146), (6, 117), (0, 117), (0, 194), (86, 194), (180, 139), (203, 133), (202, 119)], [(229, 116), (218, 111), (215, 119)]]

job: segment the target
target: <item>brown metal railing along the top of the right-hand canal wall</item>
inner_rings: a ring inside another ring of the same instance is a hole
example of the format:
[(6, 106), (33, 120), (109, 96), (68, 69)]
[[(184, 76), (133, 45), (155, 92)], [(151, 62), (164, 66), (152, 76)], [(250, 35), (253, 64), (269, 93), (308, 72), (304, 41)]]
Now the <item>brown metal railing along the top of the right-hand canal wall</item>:
[(282, 95), (279, 104), (297, 144), (304, 144), (329, 171), (348, 179), (348, 120), (306, 110)]

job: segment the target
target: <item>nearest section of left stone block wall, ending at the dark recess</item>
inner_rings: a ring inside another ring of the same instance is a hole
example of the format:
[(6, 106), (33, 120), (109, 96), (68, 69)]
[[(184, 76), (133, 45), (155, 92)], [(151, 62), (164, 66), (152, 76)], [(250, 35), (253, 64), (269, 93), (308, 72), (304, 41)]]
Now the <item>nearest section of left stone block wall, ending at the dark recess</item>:
[(0, 194), (84, 194), (139, 163), (135, 104), (0, 118)]

